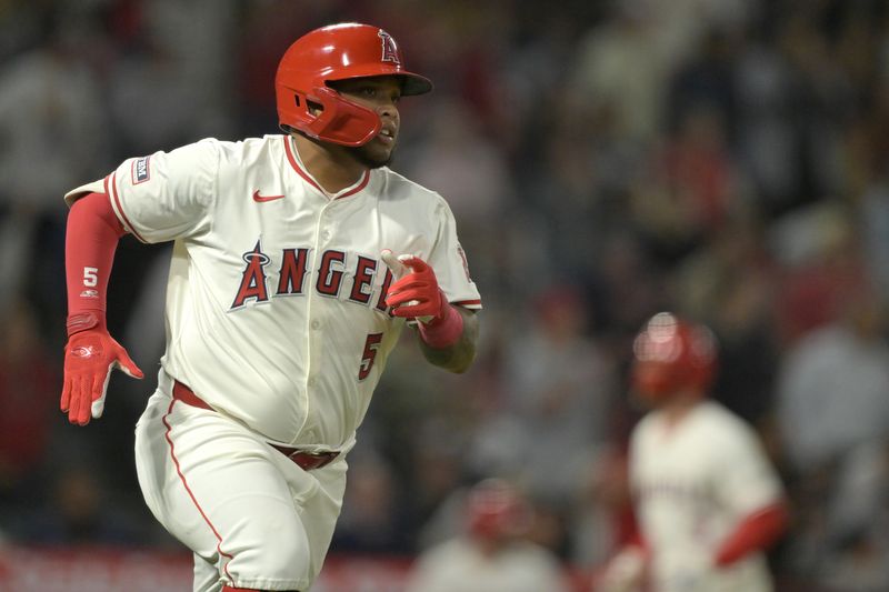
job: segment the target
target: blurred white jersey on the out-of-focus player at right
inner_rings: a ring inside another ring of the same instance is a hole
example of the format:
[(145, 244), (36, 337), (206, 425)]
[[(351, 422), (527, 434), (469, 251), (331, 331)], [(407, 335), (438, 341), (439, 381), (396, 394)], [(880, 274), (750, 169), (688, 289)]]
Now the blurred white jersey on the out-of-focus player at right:
[(782, 496), (756, 432), (741, 419), (713, 401), (676, 424), (649, 413), (631, 437), (630, 484), (656, 592), (771, 590), (760, 553), (712, 566), (735, 526)]

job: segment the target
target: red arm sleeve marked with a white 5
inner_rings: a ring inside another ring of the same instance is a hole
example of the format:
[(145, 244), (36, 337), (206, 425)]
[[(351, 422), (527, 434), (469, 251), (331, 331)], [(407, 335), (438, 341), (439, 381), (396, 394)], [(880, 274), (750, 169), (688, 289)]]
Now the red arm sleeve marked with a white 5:
[(71, 205), (64, 240), (69, 335), (104, 329), (108, 281), (124, 233), (107, 194), (89, 193)]

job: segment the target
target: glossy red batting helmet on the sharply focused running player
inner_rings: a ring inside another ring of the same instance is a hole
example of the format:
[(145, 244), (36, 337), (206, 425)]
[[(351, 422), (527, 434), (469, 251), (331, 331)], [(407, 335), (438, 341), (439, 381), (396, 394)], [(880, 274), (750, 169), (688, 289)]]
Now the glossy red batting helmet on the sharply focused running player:
[(404, 69), (398, 43), (382, 29), (348, 22), (306, 33), (284, 52), (274, 77), (281, 129), (342, 146), (369, 142), (380, 131), (380, 118), (328, 84), (376, 76), (400, 77), (403, 96), (432, 90), (428, 79)]

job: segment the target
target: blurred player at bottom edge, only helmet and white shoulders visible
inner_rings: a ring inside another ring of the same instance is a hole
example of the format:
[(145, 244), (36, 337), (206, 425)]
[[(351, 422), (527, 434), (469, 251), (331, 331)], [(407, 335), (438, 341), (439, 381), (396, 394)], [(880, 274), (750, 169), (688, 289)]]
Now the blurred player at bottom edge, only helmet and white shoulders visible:
[(407, 592), (567, 592), (558, 559), (527, 539), (528, 500), (501, 479), (475, 485), (465, 531), (422, 553)]

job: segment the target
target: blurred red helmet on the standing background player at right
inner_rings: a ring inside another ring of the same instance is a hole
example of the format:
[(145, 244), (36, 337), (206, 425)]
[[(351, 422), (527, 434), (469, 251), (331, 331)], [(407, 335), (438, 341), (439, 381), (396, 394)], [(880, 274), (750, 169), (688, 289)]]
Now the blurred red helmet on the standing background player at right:
[(659, 312), (633, 342), (632, 388), (652, 401), (685, 389), (706, 392), (716, 362), (716, 339), (709, 329)]

